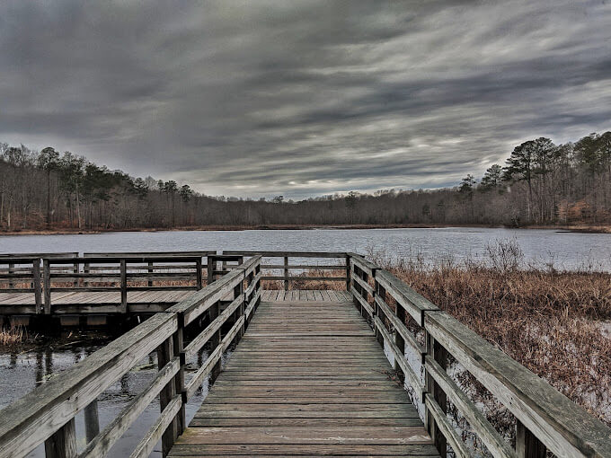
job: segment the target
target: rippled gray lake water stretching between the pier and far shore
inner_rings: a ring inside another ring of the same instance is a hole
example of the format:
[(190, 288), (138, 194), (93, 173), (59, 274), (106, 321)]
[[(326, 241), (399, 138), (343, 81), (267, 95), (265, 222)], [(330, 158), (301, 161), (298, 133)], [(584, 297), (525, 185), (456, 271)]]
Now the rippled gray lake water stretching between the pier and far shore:
[(556, 269), (611, 270), (611, 234), (536, 229), (314, 229), (307, 231), (180, 231), (84, 235), (0, 236), (0, 252), (60, 251), (357, 251), (400, 258), (460, 261), (479, 258), (496, 240), (515, 239), (528, 264)]

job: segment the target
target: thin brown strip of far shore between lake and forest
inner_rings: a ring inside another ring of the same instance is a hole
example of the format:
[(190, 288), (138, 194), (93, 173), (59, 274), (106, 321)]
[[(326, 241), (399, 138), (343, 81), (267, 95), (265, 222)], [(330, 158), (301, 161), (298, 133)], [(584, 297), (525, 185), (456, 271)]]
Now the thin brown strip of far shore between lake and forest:
[(442, 229), (450, 227), (499, 228), (499, 229), (549, 229), (571, 233), (611, 233), (611, 225), (439, 225), (439, 224), (407, 224), (407, 225), (204, 225), (173, 228), (131, 228), (131, 229), (75, 229), (52, 228), (21, 231), (2, 231), (2, 235), (74, 235), (95, 233), (155, 233), (174, 231), (249, 231), (249, 230), (313, 230), (313, 229)]

